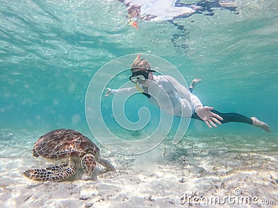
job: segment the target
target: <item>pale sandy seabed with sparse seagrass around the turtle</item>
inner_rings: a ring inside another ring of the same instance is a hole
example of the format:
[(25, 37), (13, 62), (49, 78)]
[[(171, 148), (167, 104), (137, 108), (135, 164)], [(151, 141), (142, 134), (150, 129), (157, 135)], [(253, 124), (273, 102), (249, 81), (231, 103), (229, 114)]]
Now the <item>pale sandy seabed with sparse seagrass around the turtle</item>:
[(171, 142), (138, 156), (103, 149), (115, 172), (97, 166), (90, 180), (79, 171), (70, 180), (41, 183), (22, 175), (51, 165), (31, 156), (33, 141), (2, 138), (0, 207), (278, 207), (277, 152)]

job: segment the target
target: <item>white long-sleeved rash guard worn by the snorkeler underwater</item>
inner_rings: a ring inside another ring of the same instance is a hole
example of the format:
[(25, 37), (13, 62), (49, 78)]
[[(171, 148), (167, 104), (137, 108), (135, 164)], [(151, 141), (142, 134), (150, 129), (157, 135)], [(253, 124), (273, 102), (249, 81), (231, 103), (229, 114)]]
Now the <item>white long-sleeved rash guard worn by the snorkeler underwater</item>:
[[(113, 94), (134, 94), (138, 92), (136, 87), (112, 89)], [(151, 97), (149, 101), (157, 105), (161, 110), (179, 117), (191, 117), (197, 106), (202, 106), (197, 96), (181, 85), (171, 76), (154, 76), (152, 83), (145, 92)]]

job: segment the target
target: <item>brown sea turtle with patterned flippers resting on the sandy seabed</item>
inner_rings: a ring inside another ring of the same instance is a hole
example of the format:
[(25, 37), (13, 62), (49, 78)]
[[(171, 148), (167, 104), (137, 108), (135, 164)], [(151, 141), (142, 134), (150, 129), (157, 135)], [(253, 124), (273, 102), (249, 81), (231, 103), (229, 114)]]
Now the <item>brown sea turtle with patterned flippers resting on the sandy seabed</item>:
[(110, 162), (101, 159), (99, 148), (88, 137), (75, 130), (58, 129), (43, 135), (35, 141), (33, 156), (58, 161), (58, 165), (28, 169), (23, 173), (31, 180), (40, 182), (64, 180), (72, 176), (79, 166), (90, 176), (96, 162), (115, 171)]

